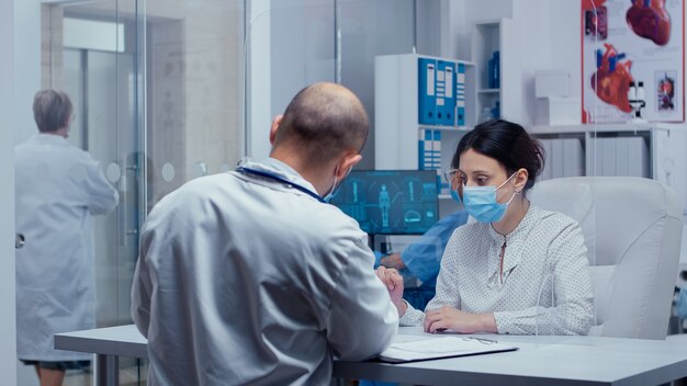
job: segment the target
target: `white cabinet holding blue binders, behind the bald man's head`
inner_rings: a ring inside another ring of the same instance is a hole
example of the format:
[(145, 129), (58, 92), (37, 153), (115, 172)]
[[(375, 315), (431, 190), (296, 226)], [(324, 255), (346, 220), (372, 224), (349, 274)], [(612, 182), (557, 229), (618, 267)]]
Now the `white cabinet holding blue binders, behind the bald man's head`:
[[(452, 75), (444, 69), (447, 64), (448, 68), (454, 66)], [(450, 168), (458, 141), (476, 122), (475, 77), (475, 66), (469, 61), (416, 54), (378, 56), (374, 60), (375, 169), (437, 170), (441, 184), (439, 197), (450, 198), (440, 171)], [(453, 101), (448, 98), (450, 94)], [(432, 103), (437, 114), (430, 116)], [(447, 112), (453, 112), (452, 124)], [(440, 201), (441, 214), (454, 209), (450, 200)]]

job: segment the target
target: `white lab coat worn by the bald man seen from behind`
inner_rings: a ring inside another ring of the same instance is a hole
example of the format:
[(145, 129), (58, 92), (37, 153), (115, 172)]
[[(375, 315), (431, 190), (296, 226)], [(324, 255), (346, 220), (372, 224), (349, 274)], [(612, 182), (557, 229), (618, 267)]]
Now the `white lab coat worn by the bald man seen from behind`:
[[(250, 162), (315, 192), (275, 160)], [(397, 311), (358, 224), (290, 184), (227, 172), (161, 200), (142, 231), (132, 314), (149, 385), (324, 385), (383, 351)]]

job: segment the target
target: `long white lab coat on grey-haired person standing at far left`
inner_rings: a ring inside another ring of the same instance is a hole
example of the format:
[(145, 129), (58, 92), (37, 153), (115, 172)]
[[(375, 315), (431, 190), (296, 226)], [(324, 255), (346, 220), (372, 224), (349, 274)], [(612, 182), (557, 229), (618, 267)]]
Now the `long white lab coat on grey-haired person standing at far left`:
[(76, 361), (53, 334), (95, 327), (91, 215), (112, 211), (117, 192), (86, 151), (37, 134), (14, 150), (16, 351), (22, 360)]

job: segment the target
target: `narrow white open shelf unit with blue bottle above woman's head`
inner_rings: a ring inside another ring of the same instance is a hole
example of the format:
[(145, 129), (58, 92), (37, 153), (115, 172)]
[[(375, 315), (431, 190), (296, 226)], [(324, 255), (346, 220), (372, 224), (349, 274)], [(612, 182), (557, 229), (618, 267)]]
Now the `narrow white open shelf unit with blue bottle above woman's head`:
[[(485, 20), (474, 23), (472, 33), (472, 60), (476, 66), (477, 116), (486, 107), (492, 111), (499, 102), (500, 115), (520, 122), (521, 84), (520, 65), (517, 53), (519, 29), (511, 19)], [(514, 44), (517, 43), (517, 44)], [(488, 83), (488, 61), (494, 52), (499, 53), (499, 87)]]

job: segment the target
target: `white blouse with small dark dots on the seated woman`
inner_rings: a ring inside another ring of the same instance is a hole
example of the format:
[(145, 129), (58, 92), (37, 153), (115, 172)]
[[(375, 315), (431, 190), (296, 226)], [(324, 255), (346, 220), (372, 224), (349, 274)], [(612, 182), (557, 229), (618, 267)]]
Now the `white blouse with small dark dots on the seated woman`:
[[(491, 224), (459, 227), (443, 252), (437, 295), (426, 310), (447, 305), (494, 313), (498, 333), (586, 334), (594, 293), (582, 228), (561, 213), (533, 205), (507, 236)], [(424, 318), (408, 306), (399, 322), (417, 326)]]

